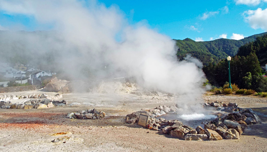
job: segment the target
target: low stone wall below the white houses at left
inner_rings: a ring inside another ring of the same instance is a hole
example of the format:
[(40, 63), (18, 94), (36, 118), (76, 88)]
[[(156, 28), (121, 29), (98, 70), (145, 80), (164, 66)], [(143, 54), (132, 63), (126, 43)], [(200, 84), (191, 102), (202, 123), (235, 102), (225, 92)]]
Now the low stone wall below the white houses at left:
[(20, 92), (41, 89), (42, 86), (17, 86), (17, 87), (0, 87), (0, 93)]

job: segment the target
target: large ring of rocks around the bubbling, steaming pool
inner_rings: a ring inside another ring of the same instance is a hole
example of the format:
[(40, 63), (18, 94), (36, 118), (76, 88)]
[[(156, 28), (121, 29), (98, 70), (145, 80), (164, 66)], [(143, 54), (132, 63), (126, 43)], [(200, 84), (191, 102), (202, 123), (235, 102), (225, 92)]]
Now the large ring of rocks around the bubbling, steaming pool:
[[(148, 129), (162, 130), (164, 134), (170, 134), (174, 138), (183, 140), (222, 140), (222, 139), (238, 139), (243, 133), (247, 125), (261, 123), (260, 118), (253, 112), (252, 109), (238, 108), (235, 103), (229, 103), (224, 109), (234, 111), (229, 114), (221, 114), (220, 117), (207, 122), (204, 125), (204, 129), (201, 126), (192, 128), (187, 125), (183, 125), (178, 120), (166, 120), (164, 118), (156, 119), (157, 114), (162, 114), (159, 109), (171, 112), (174, 107), (159, 106), (156, 109), (150, 111), (148, 109), (133, 112), (126, 115), (127, 123), (138, 122), (139, 115), (147, 114), (150, 116), (147, 124)], [(170, 109), (168, 109), (170, 108)], [(159, 113), (155, 113), (159, 112)], [(153, 112), (154, 111), (154, 112)]]

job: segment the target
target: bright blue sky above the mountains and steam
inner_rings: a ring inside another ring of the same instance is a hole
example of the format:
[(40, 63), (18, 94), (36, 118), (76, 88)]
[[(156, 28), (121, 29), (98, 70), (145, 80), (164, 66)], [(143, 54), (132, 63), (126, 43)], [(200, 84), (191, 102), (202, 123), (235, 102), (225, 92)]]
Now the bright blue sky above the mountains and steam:
[[(98, 3), (117, 7), (130, 25), (143, 22), (171, 39), (240, 39), (267, 31), (267, 0), (99, 0)], [(53, 26), (39, 23), (30, 15), (10, 15), (0, 8), (0, 30), (5, 29), (51, 30)]]

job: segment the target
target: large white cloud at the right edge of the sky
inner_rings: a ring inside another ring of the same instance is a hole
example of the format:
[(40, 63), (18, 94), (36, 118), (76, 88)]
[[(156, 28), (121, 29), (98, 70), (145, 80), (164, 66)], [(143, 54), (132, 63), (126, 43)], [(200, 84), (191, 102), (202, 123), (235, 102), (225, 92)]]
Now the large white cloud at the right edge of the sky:
[(246, 22), (253, 29), (261, 28), (267, 31), (267, 9), (262, 10), (258, 8), (257, 10), (248, 10), (243, 13)]

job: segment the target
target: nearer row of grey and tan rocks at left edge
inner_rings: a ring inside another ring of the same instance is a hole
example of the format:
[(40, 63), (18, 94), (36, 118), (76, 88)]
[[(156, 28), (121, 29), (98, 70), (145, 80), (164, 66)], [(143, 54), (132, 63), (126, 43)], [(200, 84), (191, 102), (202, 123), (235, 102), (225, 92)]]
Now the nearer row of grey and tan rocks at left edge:
[(41, 108), (51, 108), (55, 106), (65, 106), (68, 102), (66, 100), (57, 101), (57, 100), (50, 100), (50, 99), (33, 99), (29, 101), (25, 101), (24, 103), (17, 104), (11, 103), (10, 101), (1, 101), (1, 108), (2, 109), (41, 109)]

